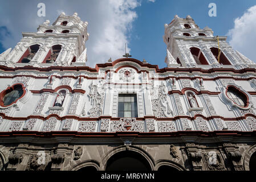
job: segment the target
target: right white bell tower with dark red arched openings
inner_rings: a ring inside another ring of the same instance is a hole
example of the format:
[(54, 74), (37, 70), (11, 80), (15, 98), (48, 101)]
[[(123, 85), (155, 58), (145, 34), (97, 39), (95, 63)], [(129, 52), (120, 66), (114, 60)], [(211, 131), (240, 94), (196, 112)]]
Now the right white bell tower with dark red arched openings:
[(165, 63), (168, 67), (235, 68), (255, 67), (253, 61), (226, 42), (225, 36), (214, 36), (212, 29), (197, 26), (190, 15), (178, 15), (165, 24), (167, 46)]

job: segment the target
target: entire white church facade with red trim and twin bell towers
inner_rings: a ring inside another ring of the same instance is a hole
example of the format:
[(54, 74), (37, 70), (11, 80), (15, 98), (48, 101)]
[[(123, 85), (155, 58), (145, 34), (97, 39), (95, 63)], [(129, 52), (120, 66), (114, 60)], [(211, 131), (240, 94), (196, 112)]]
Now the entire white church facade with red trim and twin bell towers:
[(165, 68), (88, 67), (77, 13), (0, 55), (1, 170), (256, 169), (256, 64), (188, 15), (164, 26)]

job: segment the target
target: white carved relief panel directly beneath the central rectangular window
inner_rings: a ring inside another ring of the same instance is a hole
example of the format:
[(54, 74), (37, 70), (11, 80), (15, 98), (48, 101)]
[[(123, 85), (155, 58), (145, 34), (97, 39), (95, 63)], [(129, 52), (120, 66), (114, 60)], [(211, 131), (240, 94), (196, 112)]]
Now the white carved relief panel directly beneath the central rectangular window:
[(111, 132), (116, 131), (145, 132), (144, 121), (136, 121), (136, 118), (120, 118), (120, 121), (111, 122)]

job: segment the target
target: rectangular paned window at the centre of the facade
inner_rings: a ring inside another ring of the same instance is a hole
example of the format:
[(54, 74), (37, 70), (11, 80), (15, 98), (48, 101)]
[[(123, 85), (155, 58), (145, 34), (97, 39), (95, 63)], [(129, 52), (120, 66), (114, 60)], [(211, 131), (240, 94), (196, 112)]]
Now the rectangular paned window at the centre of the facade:
[(118, 117), (119, 118), (137, 118), (138, 117), (136, 94), (119, 94)]

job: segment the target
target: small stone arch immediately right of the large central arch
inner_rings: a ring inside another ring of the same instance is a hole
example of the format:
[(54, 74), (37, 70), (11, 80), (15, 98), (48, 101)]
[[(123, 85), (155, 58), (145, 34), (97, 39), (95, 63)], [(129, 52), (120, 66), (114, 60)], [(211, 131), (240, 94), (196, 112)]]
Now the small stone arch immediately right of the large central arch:
[(166, 169), (168, 168), (172, 169), (170, 171), (186, 171), (184, 167), (182, 167), (180, 164), (173, 162), (172, 160), (158, 160), (155, 168), (157, 169), (157, 171), (159, 171), (161, 167), (162, 171), (166, 171)]

